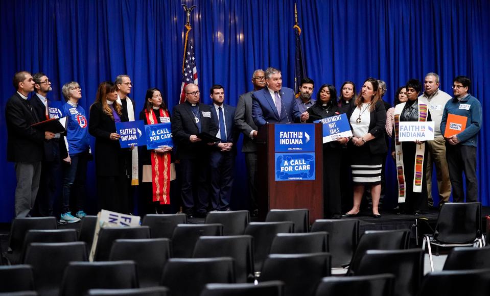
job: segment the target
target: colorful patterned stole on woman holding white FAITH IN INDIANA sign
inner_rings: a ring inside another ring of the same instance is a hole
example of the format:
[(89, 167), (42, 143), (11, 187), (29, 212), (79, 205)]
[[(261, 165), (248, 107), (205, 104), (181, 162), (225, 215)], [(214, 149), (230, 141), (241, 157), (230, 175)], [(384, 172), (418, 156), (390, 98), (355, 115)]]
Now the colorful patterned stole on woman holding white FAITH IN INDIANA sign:
[[(418, 103), (418, 121), (427, 120), (427, 105)], [(400, 127), (400, 114), (403, 111), (406, 103), (401, 103), (395, 106), (394, 112), (394, 126), (395, 126), (395, 161), (396, 161), (396, 175), (398, 177), (398, 202), (405, 202), (405, 189), (406, 180), (404, 175), (403, 164), (403, 148), (402, 143), (398, 140), (399, 127)], [(424, 152), (425, 143), (416, 146), (415, 150), (415, 163), (413, 174), (413, 192), (422, 192), (422, 176), (424, 174)]]

